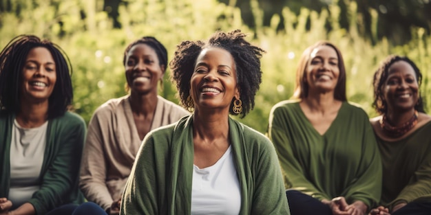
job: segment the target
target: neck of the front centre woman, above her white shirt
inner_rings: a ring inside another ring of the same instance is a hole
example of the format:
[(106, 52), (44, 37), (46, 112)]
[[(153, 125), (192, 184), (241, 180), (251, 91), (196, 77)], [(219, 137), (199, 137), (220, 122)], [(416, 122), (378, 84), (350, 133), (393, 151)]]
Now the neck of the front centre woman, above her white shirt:
[(214, 139), (228, 138), (229, 117), (193, 113), (193, 136), (212, 142)]

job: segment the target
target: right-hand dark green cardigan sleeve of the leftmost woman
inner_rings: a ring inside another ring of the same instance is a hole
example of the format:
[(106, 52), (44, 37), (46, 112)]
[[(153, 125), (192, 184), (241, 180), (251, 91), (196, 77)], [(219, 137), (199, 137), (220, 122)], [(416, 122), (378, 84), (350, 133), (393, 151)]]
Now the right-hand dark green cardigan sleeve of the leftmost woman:
[(34, 206), (36, 214), (46, 214), (63, 204), (62, 200), (70, 195), (78, 179), (85, 139), (85, 122), (81, 117), (67, 120), (67, 126), (60, 128), (55, 134), (50, 133), (50, 137), (54, 138), (54, 144), (59, 144), (59, 151), (43, 174), (40, 190), (34, 192), (29, 201)]

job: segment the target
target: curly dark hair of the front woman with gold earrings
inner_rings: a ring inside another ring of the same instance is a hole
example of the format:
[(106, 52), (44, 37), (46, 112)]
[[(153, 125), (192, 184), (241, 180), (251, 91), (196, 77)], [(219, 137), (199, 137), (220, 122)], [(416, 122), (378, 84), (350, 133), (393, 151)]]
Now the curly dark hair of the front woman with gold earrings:
[[(169, 63), (171, 68), (171, 78), (176, 82), (178, 95), (181, 103), (186, 109), (193, 109), (187, 102), (190, 93), (190, 79), (196, 65), (196, 59), (200, 52), (207, 47), (219, 47), (231, 53), (237, 71), (237, 82), (242, 100), (242, 113), (244, 117), (255, 105), (255, 94), (262, 82), (262, 71), (260, 68), (260, 58), (265, 52), (260, 47), (251, 45), (244, 40), (246, 34), (241, 30), (232, 32), (215, 32), (209, 41), (183, 41), (177, 46), (174, 58)], [(235, 98), (232, 98), (229, 113), (233, 113), (232, 106)]]

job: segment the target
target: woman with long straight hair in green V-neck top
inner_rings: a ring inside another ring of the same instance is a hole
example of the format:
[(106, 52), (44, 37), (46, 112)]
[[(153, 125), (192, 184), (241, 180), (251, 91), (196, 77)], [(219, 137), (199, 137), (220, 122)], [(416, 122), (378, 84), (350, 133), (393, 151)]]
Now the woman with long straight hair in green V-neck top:
[(368, 115), (346, 101), (339, 49), (308, 47), (296, 84), (295, 100), (273, 106), (268, 133), (292, 214), (365, 214), (380, 199), (380, 157)]

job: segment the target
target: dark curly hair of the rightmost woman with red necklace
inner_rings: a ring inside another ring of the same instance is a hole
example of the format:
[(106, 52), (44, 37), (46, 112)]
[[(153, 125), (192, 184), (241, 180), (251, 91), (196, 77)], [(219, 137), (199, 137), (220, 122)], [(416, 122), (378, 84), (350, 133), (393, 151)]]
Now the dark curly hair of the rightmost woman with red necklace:
[[(388, 79), (389, 68), (392, 64), (400, 60), (403, 60), (406, 63), (408, 63), (410, 66), (412, 66), (414, 70), (414, 74), (416, 75), (416, 80), (417, 80), (419, 89), (421, 87), (422, 73), (417, 67), (417, 65), (414, 64), (412, 60), (410, 60), (410, 58), (406, 56), (397, 56), (397, 55), (388, 56), (385, 60), (382, 61), (377, 71), (375, 71), (374, 78), (372, 81), (372, 86), (374, 87), (374, 102), (372, 102), (372, 107), (375, 108), (375, 110), (379, 114), (385, 114), (388, 111), (388, 106), (386, 104), (386, 101), (383, 99), (382, 87), (383, 87), (383, 84), (385, 84), (386, 80)], [(419, 100), (417, 104), (414, 105), (414, 109), (419, 112), (425, 113), (425, 110), (423, 109), (423, 99), (421, 95), (419, 95)]]

